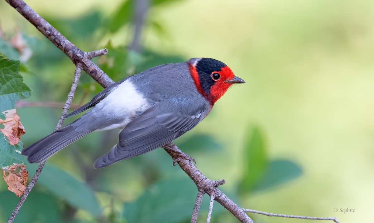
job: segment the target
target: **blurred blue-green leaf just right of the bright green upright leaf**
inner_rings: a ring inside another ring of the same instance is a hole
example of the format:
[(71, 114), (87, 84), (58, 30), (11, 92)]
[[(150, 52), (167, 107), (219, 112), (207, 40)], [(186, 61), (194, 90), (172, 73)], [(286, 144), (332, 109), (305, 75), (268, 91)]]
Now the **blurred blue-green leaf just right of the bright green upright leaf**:
[(303, 171), (297, 164), (291, 160), (272, 160), (269, 163), (269, 169), (266, 171), (265, 177), (259, 182), (252, 191), (263, 191), (292, 179), (298, 178)]

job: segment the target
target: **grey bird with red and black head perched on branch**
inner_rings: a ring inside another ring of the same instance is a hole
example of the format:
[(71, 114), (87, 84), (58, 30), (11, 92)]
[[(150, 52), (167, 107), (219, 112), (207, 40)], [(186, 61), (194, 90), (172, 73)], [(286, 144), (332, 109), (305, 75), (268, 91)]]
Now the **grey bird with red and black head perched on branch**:
[(245, 81), (212, 58), (191, 58), (128, 76), (103, 89), (65, 118), (88, 110), (71, 124), (25, 147), (29, 163), (41, 163), (93, 131), (120, 128), (119, 142), (95, 169), (144, 154), (194, 128), (233, 84)]

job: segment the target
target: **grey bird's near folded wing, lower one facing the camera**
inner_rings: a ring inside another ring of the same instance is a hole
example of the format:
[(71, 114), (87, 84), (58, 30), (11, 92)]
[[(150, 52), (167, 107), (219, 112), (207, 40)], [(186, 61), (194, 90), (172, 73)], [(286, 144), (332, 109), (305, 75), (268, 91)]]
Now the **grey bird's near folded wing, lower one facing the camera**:
[[(197, 125), (207, 114), (206, 106), (158, 102), (132, 120), (119, 133), (119, 143), (98, 158), (96, 169), (109, 166), (156, 149), (183, 135)], [(208, 109), (209, 111), (210, 109)]]

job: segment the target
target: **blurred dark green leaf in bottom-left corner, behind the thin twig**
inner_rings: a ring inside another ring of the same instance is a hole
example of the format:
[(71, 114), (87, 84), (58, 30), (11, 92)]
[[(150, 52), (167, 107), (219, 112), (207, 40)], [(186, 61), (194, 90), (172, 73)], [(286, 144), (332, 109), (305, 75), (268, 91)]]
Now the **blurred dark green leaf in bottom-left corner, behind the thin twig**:
[[(19, 198), (10, 191), (0, 192), (0, 222), (6, 222), (16, 207)], [(13, 223), (60, 223), (62, 214), (59, 212), (58, 199), (51, 195), (33, 190)]]

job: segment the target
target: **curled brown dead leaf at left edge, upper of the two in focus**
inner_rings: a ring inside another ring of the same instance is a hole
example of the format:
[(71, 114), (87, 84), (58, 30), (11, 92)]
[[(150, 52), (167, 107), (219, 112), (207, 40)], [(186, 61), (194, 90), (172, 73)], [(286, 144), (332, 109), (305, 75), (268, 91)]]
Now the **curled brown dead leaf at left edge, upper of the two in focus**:
[(5, 119), (0, 119), (0, 124), (4, 125), (4, 129), (0, 128), (0, 132), (9, 139), (11, 145), (16, 145), (21, 140), (21, 135), (25, 134), (25, 128), (19, 121), (20, 117), (15, 109), (7, 110), (3, 114)]

